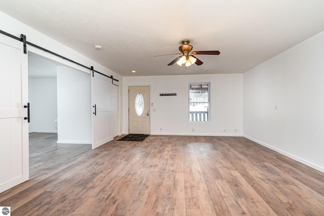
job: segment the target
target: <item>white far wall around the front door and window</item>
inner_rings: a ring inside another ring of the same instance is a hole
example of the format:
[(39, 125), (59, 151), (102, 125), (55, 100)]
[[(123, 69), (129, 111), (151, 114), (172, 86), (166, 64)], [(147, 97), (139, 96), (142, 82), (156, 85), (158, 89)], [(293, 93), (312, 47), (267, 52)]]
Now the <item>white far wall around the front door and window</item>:
[[(182, 69), (179, 67), (179, 69)], [(211, 82), (211, 121), (188, 122), (188, 83)], [(128, 87), (150, 85), (152, 135), (242, 135), (242, 74), (124, 77), (124, 127), (128, 134)], [(177, 96), (159, 96), (160, 93)], [(156, 111), (153, 112), (152, 108)], [(160, 131), (162, 128), (162, 131)], [(194, 132), (192, 132), (194, 128)], [(226, 132), (224, 132), (224, 128)], [(235, 132), (236, 129), (236, 132)]]

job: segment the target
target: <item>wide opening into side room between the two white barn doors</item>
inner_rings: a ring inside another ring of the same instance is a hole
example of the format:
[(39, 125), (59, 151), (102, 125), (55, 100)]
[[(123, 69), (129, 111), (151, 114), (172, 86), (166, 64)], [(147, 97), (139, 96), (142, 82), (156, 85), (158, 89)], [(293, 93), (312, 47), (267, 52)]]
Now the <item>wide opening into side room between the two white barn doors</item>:
[(75, 146), (70, 154), (91, 150), (91, 145), (79, 145), (92, 143), (89, 73), (28, 52), (28, 97), (30, 177), (58, 163), (43, 160), (45, 152), (66, 145)]

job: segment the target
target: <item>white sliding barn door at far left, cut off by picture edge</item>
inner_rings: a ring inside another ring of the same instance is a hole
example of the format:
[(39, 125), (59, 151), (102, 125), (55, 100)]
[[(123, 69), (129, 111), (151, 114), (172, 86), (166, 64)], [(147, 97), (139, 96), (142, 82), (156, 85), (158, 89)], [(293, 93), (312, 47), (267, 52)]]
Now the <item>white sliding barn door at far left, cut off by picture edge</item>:
[(28, 66), (23, 43), (0, 35), (0, 193), (29, 179)]

